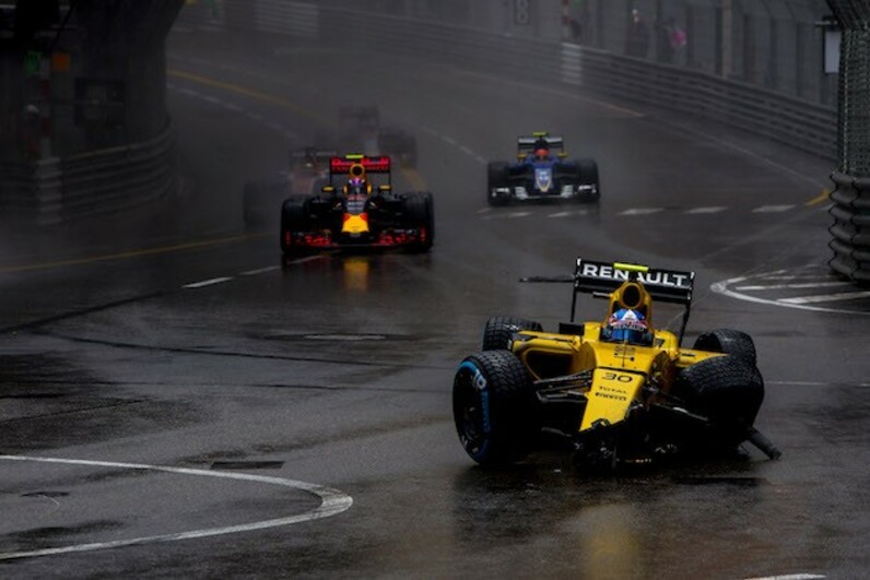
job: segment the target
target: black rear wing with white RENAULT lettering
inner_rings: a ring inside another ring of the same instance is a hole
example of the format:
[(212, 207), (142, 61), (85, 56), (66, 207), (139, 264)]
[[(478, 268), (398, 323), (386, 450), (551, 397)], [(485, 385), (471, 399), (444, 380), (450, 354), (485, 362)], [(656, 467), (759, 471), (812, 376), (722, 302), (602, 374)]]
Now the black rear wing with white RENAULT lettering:
[(654, 300), (680, 305), (692, 303), (694, 272), (656, 270), (620, 262), (593, 262), (581, 258), (577, 258), (574, 270), (574, 292), (610, 294), (630, 280), (643, 284)]

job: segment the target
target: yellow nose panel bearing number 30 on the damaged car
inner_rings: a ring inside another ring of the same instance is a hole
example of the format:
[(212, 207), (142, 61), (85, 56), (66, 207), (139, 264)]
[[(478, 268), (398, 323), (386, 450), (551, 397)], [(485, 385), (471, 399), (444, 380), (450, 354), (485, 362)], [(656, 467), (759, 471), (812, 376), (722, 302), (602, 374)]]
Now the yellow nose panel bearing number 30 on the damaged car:
[(646, 377), (610, 368), (597, 368), (592, 372), (592, 388), (586, 394), (588, 402), (583, 414), (580, 430), (604, 419), (610, 424), (625, 418), (632, 402), (644, 388)]

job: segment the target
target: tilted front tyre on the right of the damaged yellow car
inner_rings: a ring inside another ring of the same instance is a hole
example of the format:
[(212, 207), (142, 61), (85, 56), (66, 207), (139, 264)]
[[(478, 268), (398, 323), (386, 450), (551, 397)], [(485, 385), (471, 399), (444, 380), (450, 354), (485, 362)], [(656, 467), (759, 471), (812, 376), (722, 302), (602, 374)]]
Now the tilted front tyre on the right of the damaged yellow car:
[(764, 400), (764, 380), (737, 356), (716, 356), (680, 371), (673, 393), (692, 413), (709, 419), (706, 443), (736, 447), (744, 441)]

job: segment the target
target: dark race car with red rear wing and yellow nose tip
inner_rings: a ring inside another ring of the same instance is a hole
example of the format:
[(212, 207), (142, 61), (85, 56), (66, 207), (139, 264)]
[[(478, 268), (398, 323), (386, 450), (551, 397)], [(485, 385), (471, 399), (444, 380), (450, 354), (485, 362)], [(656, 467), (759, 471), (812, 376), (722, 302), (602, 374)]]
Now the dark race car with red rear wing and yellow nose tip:
[[(383, 182), (373, 182), (378, 176)], [(393, 193), (387, 156), (332, 157), (329, 185), (319, 194), (294, 196), (281, 208), (284, 255), (336, 248), (428, 251), (434, 239), (432, 193)]]

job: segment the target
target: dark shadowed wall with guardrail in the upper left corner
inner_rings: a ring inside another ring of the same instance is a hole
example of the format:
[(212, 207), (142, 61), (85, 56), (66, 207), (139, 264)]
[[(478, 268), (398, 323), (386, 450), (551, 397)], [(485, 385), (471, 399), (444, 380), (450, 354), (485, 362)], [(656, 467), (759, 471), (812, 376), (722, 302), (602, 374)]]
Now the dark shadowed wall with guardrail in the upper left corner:
[(1, 9), (1, 220), (56, 224), (174, 190), (164, 43), (181, 3), (56, 2), (26, 36)]

